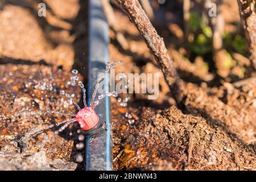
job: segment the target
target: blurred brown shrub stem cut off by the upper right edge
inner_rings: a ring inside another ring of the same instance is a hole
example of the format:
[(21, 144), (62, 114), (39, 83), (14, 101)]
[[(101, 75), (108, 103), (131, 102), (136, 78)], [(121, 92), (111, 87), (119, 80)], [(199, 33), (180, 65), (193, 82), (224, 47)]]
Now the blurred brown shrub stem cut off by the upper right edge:
[(256, 69), (256, 14), (255, 0), (237, 0), (243, 28), (250, 51), (250, 59)]

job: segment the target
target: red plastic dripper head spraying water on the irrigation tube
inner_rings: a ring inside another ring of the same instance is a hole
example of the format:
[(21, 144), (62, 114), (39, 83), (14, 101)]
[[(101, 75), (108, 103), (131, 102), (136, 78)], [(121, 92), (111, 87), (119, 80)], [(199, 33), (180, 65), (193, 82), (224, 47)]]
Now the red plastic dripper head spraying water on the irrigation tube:
[(91, 107), (84, 107), (76, 114), (76, 121), (82, 130), (90, 130), (98, 124), (100, 118)]

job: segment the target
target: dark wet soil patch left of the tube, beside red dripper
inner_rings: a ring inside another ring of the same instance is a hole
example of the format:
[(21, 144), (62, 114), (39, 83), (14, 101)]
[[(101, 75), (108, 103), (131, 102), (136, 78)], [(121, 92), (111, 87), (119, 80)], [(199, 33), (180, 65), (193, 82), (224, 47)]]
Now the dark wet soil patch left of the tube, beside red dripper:
[[(17, 155), (26, 152), (32, 155), (45, 151), (49, 159), (75, 161), (75, 127), (56, 133), (57, 127), (49, 129), (49, 126), (68, 117), (47, 112), (76, 112), (60, 94), (60, 90), (65, 90), (75, 94), (74, 100), (79, 101), (80, 90), (67, 84), (71, 74), (44, 65), (1, 65), (1, 69), (1, 155), (8, 156), (6, 152), (16, 152)], [(43, 85), (42, 82), (47, 83), (46, 89), (36, 88), (37, 85)], [(30, 166), (29, 169), (33, 168)]]

